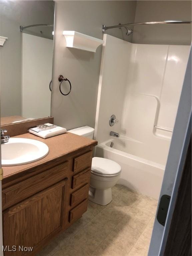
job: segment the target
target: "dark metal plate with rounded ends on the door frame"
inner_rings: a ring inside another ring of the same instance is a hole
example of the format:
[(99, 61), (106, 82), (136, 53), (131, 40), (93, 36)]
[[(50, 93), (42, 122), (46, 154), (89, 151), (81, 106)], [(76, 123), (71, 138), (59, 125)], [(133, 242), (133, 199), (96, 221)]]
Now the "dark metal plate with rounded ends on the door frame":
[(168, 195), (162, 195), (160, 199), (159, 209), (157, 212), (157, 220), (163, 226), (165, 226), (170, 199), (171, 197)]

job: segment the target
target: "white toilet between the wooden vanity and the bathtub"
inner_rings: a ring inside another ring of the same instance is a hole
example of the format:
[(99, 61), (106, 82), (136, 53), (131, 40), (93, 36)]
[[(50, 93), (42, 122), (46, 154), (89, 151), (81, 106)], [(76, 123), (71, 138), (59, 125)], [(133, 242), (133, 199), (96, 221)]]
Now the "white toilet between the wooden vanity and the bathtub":
[[(93, 139), (94, 129), (83, 126), (68, 132)], [(91, 180), (89, 200), (100, 205), (107, 205), (112, 200), (111, 188), (120, 178), (121, 166), (109, 159), (93, 157), (91, 166)]]

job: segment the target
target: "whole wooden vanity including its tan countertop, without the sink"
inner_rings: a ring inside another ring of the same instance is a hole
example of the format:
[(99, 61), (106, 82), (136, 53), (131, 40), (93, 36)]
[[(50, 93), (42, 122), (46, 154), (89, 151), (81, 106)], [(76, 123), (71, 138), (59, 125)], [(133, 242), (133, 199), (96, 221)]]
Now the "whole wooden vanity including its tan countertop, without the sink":
[(49, 147), (43, 159), (3, 167), (4, 246), (32, 246), (30, 255), (35, 255), (87, 210), (92, 150), (97, 142), (69, 132), (47, 139), (29, 133), (17, 137)]

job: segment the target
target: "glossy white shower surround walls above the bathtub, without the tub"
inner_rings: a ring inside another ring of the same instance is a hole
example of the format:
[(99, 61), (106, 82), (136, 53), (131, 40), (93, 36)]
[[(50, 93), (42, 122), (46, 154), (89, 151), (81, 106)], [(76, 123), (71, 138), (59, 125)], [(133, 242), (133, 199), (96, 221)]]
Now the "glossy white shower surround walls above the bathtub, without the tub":
[[(106, 35), (100, 73), (96, 139), (119, 132), (145, 144), (145, 156), (165, 164), (190, 46), (132, 44)], [(113, 61), (111, 56), (113, 55)], [(112, 114), (120, 120), (109, 126)], [(163, 128), (154, 130), (154, 126)], [(156, 160), (155, 160), (156, 159)]]

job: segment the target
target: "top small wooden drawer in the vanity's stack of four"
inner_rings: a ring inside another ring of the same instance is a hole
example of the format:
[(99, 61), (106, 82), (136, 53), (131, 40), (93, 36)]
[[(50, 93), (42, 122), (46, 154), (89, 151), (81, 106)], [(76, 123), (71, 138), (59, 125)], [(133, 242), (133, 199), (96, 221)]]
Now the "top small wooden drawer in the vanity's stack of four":
[(80, 172), (84, 169), (91, 167), (92, 151), (89, 151), (81, 156), (74, 158), (73, 171)]

